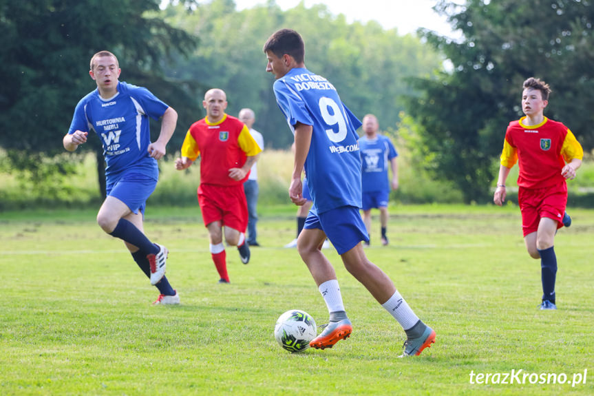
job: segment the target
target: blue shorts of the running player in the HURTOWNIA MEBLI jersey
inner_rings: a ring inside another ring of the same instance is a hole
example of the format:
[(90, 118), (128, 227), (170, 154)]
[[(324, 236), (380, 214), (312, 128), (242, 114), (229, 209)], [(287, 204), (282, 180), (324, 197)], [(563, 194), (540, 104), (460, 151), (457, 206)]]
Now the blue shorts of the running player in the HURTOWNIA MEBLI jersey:
[(123, 174), (106, 186), (107, 196), (124, 202), (134, 214), (145, 213), (147, 199), (157, 187), (157, 180), (143, 174)]

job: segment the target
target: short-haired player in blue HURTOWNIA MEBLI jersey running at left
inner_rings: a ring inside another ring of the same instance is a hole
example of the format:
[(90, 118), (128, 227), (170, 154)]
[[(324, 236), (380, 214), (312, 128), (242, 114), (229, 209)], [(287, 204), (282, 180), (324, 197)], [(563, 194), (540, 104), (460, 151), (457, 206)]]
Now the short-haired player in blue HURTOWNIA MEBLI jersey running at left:
[[(178, 114), (149, 90), (119, 81), (118, 59), (109, 51), (94, 54), (89, 74), (97, 89), (76, 105), (64, 148), (74, 152), (95, 132), (103, 144), (107, 198), (97, 213), (99, 226), (125, 242), (138, 267), (160, 291), (153, 304), (179, 304), (165, 277), (167, 248), (145, 236), (147, 198), (157, 185), (157, 160), (176, 129)], [(161, 118), (161, 132), (151, 143), (149, 117)]]

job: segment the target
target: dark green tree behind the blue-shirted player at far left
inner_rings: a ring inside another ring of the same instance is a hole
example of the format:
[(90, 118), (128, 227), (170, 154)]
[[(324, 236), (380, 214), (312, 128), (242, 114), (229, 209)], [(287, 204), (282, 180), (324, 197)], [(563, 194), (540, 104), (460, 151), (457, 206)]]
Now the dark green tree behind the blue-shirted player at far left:
[[(118, 56), (122, 76), (144, 85), (180, 113), (195, 114), (196, 83), (165, 79), (162, 61), (187, 54), (197, 40), (158, 17), (159, 0), (32, 0), (0, 2), (0, 147), (16, 169), (39, 171), (63, 152), (78, 100), (96, 85), (89, 60), (100, 50)], [(186, 2), (193, 3), (193, 2)], [(191, 109), (191, 110), (189, 110)], [(193, 116), (192, 114), (192, 116)], [(85, 149), (98, 149), (98, 139)], [(103, 184), (103, 158), (98, 153)], [(54, 167), (52, 162), (52, 167)], [(67, 172), (72, 167), (55, 167)], [(36, 180), (43, 181), (43, 180)], [(39, 184), (41, 188), (42, 183)]]

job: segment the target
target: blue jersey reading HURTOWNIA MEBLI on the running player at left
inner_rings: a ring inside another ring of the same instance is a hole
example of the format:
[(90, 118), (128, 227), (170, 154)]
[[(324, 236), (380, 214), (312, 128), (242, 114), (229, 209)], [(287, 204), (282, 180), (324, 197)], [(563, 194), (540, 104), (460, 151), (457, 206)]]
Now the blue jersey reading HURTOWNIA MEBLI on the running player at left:
[(158, 120), (168, 106), (149, 90), (118, 83), (118, 93), (109, 99), (94, 90), (76, 105), (69, 134), (94, 131), (103, 144), (107, 182), (125, 171), (158, 179), (157, 161), (151, 158), (149, 116)]

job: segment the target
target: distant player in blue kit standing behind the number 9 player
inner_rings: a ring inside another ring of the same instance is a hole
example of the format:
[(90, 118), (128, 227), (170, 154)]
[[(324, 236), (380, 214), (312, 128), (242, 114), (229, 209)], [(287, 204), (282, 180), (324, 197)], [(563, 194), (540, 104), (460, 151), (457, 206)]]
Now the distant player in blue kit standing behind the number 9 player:
[[(367, 114), (363, 117), (364, 135), (359, 138), (361, 150), (362, 171), (361, 182), (363, 186), (363, 222), (371, 236), (371, 209), (379, 209), (381, 224), (381, 244), (388, 244), (388, 197), (390, 187), (398, 188), (398, 152), (392, 141), (386, 136), (377, 133), (379, 123), (376, 116)], [(392, 180), (388, 183), (388, 163), (392, 168)], [(369, 241), (365, 246), (369, 246)]]

